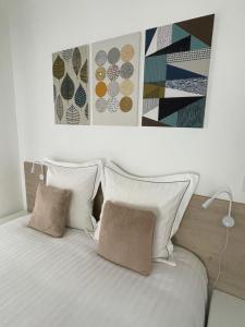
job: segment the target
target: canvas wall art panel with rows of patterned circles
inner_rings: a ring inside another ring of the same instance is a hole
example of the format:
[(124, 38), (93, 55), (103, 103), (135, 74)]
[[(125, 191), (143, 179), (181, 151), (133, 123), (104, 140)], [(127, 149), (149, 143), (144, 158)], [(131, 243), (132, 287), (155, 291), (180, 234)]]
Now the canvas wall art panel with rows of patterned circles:
[(93, 124), (138, 125), (140, 36), (91, 45)]

